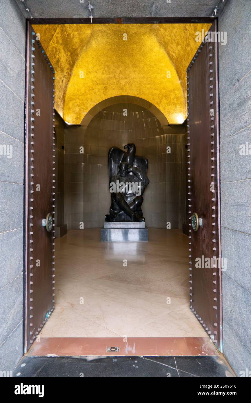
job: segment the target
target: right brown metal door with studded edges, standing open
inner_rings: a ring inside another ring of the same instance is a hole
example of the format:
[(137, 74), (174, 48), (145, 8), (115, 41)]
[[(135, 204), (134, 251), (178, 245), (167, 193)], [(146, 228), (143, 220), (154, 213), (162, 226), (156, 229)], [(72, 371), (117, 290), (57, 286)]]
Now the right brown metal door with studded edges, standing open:
[(187, 68), (187, 111), (190, 306), (222, 351), (217, 42), (202, 42)]

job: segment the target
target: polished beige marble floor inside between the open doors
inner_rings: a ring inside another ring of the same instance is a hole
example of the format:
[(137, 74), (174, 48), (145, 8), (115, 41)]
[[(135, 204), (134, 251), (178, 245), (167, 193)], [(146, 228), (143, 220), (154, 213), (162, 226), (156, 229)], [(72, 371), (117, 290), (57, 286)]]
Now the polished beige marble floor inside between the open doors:
[(100, 229), (56, 239), (55, 310), (40, 337), (208, 337), (189, 308), (188, 237), (101, 243)]

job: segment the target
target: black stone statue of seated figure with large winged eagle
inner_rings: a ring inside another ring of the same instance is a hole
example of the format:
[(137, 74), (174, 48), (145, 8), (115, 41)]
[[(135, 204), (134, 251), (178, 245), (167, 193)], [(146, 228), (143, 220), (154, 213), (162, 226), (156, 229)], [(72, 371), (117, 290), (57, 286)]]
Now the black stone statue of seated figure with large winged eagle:
[(146, 176), (148, 160), (135, 155), (135, 144), (124, 146), (124, 152), (118, 147), (111, 147), (108, 152), (109, 186), (112, 197), (110, 214), (106, 222), (144, 222), (141, 210), (143, 193), (149, 183)]

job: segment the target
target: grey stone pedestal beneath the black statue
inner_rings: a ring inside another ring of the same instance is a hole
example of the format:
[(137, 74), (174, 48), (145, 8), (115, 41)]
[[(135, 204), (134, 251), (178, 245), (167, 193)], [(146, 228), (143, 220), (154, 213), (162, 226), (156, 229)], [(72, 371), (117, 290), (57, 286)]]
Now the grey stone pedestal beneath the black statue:
[(104, 222), (101, 242), (148, 242), (145, 222)]

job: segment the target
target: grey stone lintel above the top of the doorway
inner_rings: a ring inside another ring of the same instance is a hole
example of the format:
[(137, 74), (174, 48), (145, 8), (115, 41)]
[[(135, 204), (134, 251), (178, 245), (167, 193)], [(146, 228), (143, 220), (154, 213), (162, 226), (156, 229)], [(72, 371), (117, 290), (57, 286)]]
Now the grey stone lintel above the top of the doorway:
[[(90, 16), (87, 0), (16, 0), (27, 17), (75, 17)], [(211, 17), (225, 2), (219, 0), (92, 0), (93, 17)], [(247, 0), (248, 1), (248, 0)]]

